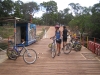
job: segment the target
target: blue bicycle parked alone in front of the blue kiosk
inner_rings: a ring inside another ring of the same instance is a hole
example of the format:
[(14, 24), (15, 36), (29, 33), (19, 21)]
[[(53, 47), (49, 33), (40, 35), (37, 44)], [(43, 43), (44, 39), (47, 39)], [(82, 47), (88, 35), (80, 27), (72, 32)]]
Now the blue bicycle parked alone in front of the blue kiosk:
[[(9, 41), (10, 44), (13, 44), (12, 41)], [(33, 64), (36, 59), (37, 59), (37, 53), (35, 50), (33, 49), (27, 49), (24, 45), (25, 42), (23, 42), (23, 46), (19, 47), (19, 46), (13, 46), (13, 47), (9, 47), (7, 49), (7, 56), (9, 59), (11, 60), (16, 60), (19, 56), (21, 56), (21, 52), (23, 50), (23, 60), (25, 61), (25, 63), (27, 64)]]

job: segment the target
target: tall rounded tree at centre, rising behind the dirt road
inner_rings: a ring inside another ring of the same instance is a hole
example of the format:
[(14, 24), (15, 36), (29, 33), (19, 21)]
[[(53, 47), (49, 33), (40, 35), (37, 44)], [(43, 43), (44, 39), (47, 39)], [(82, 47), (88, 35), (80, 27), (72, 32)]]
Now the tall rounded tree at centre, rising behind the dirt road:
[(41, 7), (46, 9), (42, 19), (46, 25), (54, 25), (57, 21), (57, 3), (55, 1), (43, 2), (40, 4)]

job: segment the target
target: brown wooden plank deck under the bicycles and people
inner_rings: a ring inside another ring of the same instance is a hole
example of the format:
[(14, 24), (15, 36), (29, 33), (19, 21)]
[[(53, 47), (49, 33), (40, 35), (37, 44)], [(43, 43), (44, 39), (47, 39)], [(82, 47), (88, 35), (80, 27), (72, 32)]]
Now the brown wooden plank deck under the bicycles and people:
[(85, 47), (80, 52), (68, 55), (61, 51), (60, 56), (51, 57), (48, 44), (54, 33), (53, 27), (47, 32), (47, 38), (30, 45), (38, 54), (34, 64), (28, 65), (19, 57), (16, 61), (6, 60), (0, 64), (0, 75), (100, 75), (100, 60)]

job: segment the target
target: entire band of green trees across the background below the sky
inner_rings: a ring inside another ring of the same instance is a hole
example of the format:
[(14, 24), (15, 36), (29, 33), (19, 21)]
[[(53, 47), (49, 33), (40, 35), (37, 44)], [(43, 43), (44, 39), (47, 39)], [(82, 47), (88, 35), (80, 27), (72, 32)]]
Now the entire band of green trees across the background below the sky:
[(42, 17), (36, 17), (32, 20), (37, 25), (69, 25), (73, 31), (79, 30), (82, 34), (88, 33), (91, 37), (100, 38), (99, 1), (91, 7), (70, 3), (69, 7), (58, 11), (55, 1), (37, 4), (34, 1), (24, 3), (21, 0), (15, 2), (13, 0), (0, 0), (0, 17), (15, 16), (30, 21), (30, 14), (34, 16), (41, 10), (44, 12)]

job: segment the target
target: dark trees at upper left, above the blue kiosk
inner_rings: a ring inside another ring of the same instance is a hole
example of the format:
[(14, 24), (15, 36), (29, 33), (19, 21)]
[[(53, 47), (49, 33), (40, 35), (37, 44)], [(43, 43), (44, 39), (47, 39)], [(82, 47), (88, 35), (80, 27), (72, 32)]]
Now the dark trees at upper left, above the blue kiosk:
[(39, 10), (36, 2), (23, 3), (21, 0), (2, 0), (0, 1), (0, 17), (15, 16), (30, 20), (30, 15), (34, 15)]

